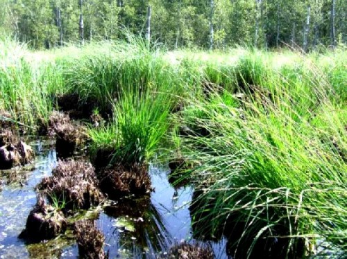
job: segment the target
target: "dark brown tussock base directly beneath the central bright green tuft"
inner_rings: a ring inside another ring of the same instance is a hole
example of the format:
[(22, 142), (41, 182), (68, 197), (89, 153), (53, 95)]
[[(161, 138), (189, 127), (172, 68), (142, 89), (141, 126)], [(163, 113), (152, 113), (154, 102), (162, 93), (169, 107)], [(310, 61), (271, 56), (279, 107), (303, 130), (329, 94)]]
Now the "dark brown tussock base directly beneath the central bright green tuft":
[(119, 199), (128, 195), (146, 195), (152, 190), (146, 165), (115, 165), (112, 168), (101, 168), (97, 176), (101, 190), (110, 199)]

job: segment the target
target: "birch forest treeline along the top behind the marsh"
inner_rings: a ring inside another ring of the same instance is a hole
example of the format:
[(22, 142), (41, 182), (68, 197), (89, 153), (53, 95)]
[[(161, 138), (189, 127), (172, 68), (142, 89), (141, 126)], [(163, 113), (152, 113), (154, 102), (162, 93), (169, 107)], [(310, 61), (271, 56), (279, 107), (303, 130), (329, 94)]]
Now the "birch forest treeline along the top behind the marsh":
[(0, 6), (2, 34), (33, 48), (121, 39), (127, 31), (169, 48), (309, 51), (346, 43), (347, 36), (344, 0), (0, 0)]

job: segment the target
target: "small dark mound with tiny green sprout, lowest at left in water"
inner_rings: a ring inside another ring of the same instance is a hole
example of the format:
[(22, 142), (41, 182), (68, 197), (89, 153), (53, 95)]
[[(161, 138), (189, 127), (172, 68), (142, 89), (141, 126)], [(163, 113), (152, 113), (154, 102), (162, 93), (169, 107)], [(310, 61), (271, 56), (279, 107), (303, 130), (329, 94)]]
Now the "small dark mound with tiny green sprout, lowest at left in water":
[(22, 231), (19, 238), (40, 242), (55, 238), (60, 233), (64, 233), (66, 229), (67, 221), (64, 214), (53, 206), (46, 205), (44, 199), (39, 197), (37, 204), (28, 215), (26, 229)]

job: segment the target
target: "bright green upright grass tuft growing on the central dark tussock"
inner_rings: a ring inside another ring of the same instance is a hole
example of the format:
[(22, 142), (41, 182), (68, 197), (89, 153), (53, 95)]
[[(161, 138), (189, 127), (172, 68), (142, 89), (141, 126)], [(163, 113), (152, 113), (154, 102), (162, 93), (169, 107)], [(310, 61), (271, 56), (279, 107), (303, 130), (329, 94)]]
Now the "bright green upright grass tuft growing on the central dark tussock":
[(124, 91), (115, 102), (110, 123), (89, 130), (92, 154), (105, 150), (112, 153), (111, 163), (148, 163), (169, 130), (173, 100), (168, 91)]

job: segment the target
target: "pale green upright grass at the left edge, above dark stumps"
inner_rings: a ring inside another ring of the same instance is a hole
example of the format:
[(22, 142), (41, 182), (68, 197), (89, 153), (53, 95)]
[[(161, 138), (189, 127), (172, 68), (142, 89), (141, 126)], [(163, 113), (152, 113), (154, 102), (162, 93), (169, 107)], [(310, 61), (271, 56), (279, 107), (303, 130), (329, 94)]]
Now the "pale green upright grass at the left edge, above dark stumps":
[(43, 55), (31, 55), (25, 45), (0, 42), (0, 109), (29, 127), (46, 123), (52, 95), (63, 87), (61, 67)]

